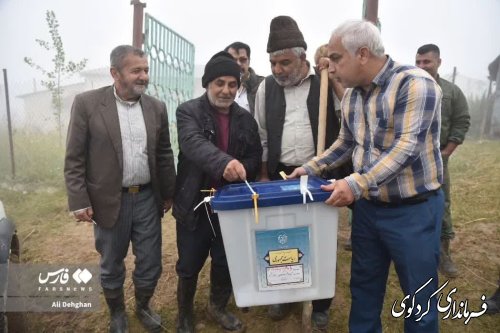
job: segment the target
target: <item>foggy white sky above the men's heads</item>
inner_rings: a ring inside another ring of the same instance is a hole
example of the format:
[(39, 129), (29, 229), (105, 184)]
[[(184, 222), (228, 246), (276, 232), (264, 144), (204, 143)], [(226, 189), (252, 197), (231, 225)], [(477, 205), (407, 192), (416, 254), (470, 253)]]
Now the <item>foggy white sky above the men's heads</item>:
[[(297, 21), (312, 60), (316, 48), (328, 41), (339, 23), (361, 18), (363, 1), (145, 2), (147, 13), (195, 45), (196, 64), (204, 65), (214, 53), (239, 40), (252, 48), (251, 67), (267, 75), (266, 44), (273, 17), (290, 15)], [(36, 38), (50, 40), (45, 22), (48, 9), (59, 20), (67, 59), (87, 58), (87, 69), (108, 67), (111, 49), (132, 42), (130, 0), (0, 0), (0, 68), (8, 69), (14, 86), (40, 78), (23, 62), (25, 56), (51, 67), (50, 54), (35, 43)], [(499, 17), (500, 0), (379, 0), (382, 38), (393, 59), (413, 64), (420, 45), (435, 43), (443, 59), (440, 73), (449, 74), (456, 66), (460, 74), (483, 80), (488, 64), (500, 54)]]

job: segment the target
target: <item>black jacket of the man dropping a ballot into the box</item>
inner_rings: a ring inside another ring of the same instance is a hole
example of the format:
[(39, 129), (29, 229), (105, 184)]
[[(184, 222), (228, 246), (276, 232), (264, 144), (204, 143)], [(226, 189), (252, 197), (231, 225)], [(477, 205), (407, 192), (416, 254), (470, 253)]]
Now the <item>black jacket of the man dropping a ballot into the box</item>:
[(200, 190), (210, 189), (214, 181), (227, 183), (222, 175), (231, 160), (244, 165), (248, 181), (255, 180), (260, 170), (262, 146), (252, 115), (237, 103), (231, 105), (225, 153), (217, 147), (215, 112), (206, 94), (179, 105), (176, 112), (179, 162), (172, 214), (191, 230), (196, 228), (198, 214), (206, 214), (203, 205), (193, 211), (208, 195)]

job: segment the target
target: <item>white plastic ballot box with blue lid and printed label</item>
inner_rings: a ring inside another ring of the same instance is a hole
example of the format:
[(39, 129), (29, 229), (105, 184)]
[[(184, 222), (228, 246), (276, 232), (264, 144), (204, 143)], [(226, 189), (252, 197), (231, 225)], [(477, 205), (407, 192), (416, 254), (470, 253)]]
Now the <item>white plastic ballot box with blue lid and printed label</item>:
[(239, 307), (334, 296), (338, 208), (324, 203), (326, 180), (302, 184), (233, 184), (212, 198)]

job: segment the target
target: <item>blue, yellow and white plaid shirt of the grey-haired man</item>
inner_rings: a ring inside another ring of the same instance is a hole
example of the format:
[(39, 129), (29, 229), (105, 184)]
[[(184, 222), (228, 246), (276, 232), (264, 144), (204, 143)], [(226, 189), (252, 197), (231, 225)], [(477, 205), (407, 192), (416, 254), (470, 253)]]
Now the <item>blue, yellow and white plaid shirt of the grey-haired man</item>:
[(429, 74), (388, 57), (368, 92), (347, 89), (337, 141), (303, 167), (319, 175), (352, 158), (354, 173), (345, 180), (356, 200), (398, 202), (438, 189), (441, 97)]

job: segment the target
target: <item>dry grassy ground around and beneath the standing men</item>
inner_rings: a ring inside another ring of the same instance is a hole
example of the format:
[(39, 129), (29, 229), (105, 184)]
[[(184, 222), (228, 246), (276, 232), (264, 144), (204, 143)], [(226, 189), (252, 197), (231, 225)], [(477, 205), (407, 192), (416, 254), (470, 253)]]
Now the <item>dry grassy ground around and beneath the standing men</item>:
[[(41, 163), (40, 165), (44, 165)], [(451, 280), (443, 291), (452, 288), (457, 302), (468, 300), (469, 310), (478, 311), (481, 295), (490, 295), (496, 289), (500, 269), (500, 142), (469, 141), (459, 147), (450, 162), (453, 178), (452, 202), (456, 239), (452, 243), (453, 258), (460, 269), (460, 277)], [(33, 171), (36, 174), (36, 170)], [(66, 196), (61, 179), (49, 184), (12, 183), (0, 180), (0, 199), (8, 215), (15, 220), (21, 240), (23, 262), (30, 263), (98, 263), (94, 249), (92, 226), (77, 224), (68, 215)], [(341, 212), (339, 221), (339, 248), (337, 251), (336, 296), (331, 308), (329, 332), (347, 332), (350, 307), (351, 252), (343, 243), (349, 237), (347, 213)], [(153, 307), (161, 312), (167, 332), (175, 331), (176, 306), (176, 245), (175, 228), (171, 216), (163, 220), (163, 274), (153, 299)], [(127, 259), (129, 275), (126, 280), (126, 302), (131, 332), (143, 332), (133, 315), (134, 299), (130, 271), (133, 256)], [(446, 280), (441, 277), (440, 285)], [(201, 273), (195, 300), (198, 332), (219, 332), (204, 314), (208, 292), (208, 270)], [(394, 270), (387, 284), (382, 322), (384, 332), (402, 332), (403, 320), (391, 316), (392, 303), (403, 298)], [(230, 305), (247, 324), (247, 332), (300, 332), (301, 308), (281, 322), (267, 318), (265, 307), (252, 307), (242, 313)], [(369, 311), (369, 309), (367, 309)], [(442, 314), (443, 317), (445, 314)], [(20, 318), (20, 319), (19, 319)], [(90, 313), (27, 313), (22, 320), (25, 332), (105, 332), (107, 310), (102, 307)], [(499, 332), (500, 315), (473, 318), (467, 325), (462, 319), (443, 319), (442, 332)]]

